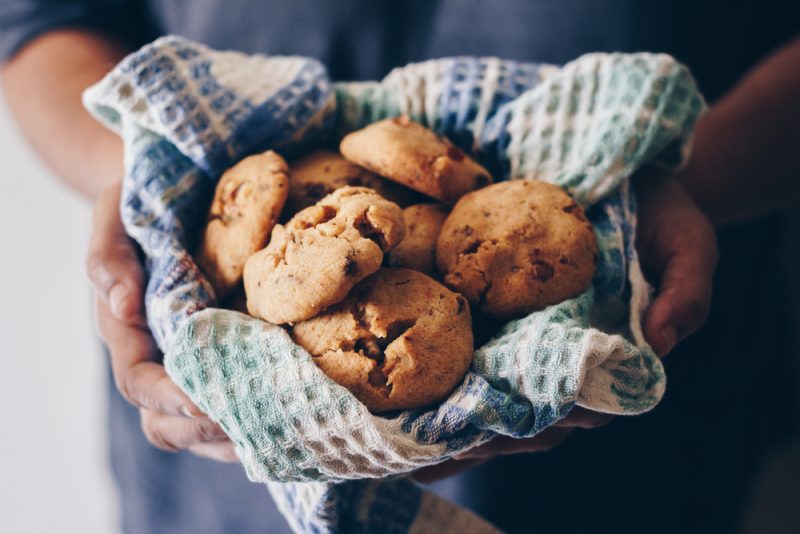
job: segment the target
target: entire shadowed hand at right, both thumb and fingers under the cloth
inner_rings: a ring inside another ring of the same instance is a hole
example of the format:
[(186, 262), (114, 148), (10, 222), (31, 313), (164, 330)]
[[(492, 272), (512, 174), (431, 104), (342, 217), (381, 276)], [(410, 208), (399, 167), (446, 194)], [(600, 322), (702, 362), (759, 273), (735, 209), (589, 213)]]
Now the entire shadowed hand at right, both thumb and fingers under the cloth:
[[(665, 356), (706, 319), (718, 251), (714, 229), (677, 180), (650, 172), (635, 180), (639, 201), (636, 249), (656, 296), (644, 319), (647, 342)], [(498, 436), (451, 460), (412, 475), (430, 483), (495, 456), (545, 452), (576, 428), (598, 428), (612, 416), (574, 408), (567, 417), (526, 439)]]

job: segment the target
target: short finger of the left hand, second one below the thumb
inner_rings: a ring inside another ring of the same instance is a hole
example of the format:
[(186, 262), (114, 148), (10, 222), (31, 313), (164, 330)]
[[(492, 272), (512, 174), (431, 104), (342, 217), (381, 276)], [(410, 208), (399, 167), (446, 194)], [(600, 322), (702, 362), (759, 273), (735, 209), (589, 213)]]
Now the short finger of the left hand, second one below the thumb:
[(165, 451), (179, 451), (203, 443), (228, 441), (223, 430), (208, 417), (188, 419), (139, 410), (142, 432), (147, 441)]

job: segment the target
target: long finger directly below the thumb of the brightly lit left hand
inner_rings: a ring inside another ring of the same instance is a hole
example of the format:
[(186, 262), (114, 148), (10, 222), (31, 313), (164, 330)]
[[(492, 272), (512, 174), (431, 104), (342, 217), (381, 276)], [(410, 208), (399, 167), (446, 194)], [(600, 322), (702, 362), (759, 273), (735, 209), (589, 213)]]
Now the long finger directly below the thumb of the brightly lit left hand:
[(100, 336), (108, 345), (114, 381), (125, 400), (169, 415), (203, 415), (155, 361), (159, 353), (150, 332), (112, 316), (101, 298), (96, 306)]

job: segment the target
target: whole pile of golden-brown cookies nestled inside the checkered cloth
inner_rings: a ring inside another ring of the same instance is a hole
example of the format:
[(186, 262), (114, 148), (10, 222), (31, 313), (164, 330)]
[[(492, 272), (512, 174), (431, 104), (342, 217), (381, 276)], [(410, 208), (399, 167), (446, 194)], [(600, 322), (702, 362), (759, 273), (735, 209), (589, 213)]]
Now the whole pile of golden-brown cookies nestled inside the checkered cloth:
[(372, 412), (442, 401), (469, 369), (473, 327), (591, 284), (594, 230), (559, 187), (490, 185), (407, 117), (339, 148), (229, 169), (196, 256), (223, 303), (286, 326)]

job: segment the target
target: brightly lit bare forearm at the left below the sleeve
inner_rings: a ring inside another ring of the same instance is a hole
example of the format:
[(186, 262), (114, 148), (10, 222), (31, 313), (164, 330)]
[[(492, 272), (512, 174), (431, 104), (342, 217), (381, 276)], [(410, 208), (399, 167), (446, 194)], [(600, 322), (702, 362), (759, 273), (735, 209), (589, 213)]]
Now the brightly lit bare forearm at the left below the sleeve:
[(122, 176), (122, 143), (83, 108), (81, 95), (125, 54), (81, 31), (46, 34), (0, 71), (3, 92), (28, 141), (63, 182), (87, 198)]

